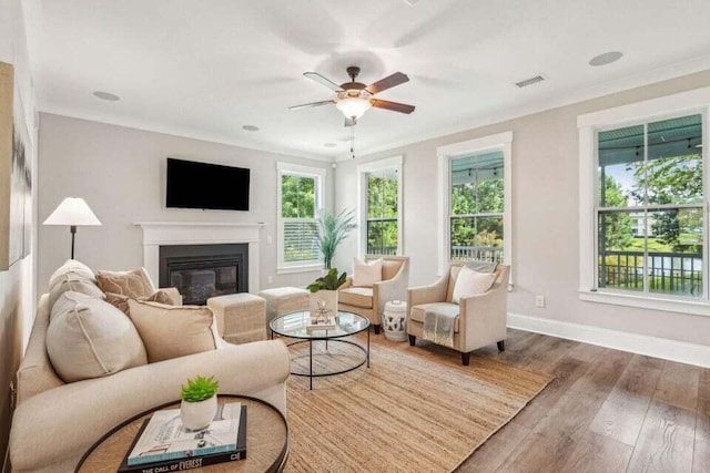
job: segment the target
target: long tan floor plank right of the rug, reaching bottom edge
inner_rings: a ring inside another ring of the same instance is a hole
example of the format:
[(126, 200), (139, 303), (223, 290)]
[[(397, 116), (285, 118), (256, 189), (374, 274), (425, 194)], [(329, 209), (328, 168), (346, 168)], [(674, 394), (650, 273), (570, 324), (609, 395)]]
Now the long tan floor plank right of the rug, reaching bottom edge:
[(503, 464), (504, 471), (561, 471), (631, 359), (610, 351), (579, 378)]

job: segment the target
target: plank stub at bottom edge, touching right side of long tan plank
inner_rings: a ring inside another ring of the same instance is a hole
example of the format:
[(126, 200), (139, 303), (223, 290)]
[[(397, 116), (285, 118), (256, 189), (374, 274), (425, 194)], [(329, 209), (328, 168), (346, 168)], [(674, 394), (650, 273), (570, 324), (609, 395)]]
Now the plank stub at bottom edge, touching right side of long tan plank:
[(587, 432), (560, 471), (575, 473), (623, 472), (633, 448), (606, 435)]

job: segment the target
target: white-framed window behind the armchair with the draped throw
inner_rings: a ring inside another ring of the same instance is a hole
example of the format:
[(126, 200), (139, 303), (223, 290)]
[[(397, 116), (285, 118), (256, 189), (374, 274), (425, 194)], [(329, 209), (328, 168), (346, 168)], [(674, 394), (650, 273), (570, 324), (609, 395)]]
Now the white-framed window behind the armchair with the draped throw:
[(448, 261), (509, 264), (513, 133), (442, 146), (439, 273)]

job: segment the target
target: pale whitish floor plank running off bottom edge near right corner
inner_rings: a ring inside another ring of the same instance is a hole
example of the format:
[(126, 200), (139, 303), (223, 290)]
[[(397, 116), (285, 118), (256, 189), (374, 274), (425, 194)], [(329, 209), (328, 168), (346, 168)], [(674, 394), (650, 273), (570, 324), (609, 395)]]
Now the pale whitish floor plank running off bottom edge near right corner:
[(693, 411), (655, 400), (643, 421), (629, 472), (691, 472)]

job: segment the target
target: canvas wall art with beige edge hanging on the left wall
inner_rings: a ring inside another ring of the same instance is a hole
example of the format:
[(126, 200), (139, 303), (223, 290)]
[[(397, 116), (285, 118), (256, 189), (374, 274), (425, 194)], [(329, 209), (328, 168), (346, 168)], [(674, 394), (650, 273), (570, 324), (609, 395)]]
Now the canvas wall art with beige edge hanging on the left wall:
[(0, 62), (0, 271), (32, 250), (32, 160), (12, 64)]

